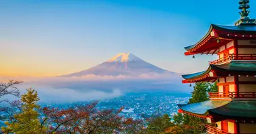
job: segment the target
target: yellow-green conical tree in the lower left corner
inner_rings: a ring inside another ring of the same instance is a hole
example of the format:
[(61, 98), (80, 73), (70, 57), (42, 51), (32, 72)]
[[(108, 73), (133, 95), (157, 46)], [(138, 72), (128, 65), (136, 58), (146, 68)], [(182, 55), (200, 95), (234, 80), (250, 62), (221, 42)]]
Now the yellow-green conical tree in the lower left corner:
[(27, 89), (27, 93), (22, 95), (21, 112), (13, 116), (14, 121), (5, 122), (6, 127), (2, 127), (4, 133), (42, 133), (44, 127), (41, 125), (38, 116), (38, 94), (32, 88)]

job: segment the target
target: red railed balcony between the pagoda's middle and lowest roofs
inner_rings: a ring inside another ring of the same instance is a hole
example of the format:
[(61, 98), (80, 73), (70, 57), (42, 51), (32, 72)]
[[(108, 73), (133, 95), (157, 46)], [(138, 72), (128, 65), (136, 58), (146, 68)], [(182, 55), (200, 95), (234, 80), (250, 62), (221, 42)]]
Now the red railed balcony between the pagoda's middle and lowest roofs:
[(256, 92), (209, 92), (209, 98), (256, 99)]

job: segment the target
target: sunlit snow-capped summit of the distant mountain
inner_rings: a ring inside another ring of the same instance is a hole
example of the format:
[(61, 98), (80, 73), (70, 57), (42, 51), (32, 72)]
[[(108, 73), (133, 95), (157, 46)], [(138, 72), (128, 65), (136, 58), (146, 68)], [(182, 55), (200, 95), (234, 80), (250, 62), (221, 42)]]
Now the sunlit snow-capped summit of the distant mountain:
[(137, 58), (137, 56), (129, 53), (119, 53), (117, 56), (114, 56), (113, 58), (110, 58), (107, 62), (135, 62), (135, 61), (142, 61), (140, 58)]

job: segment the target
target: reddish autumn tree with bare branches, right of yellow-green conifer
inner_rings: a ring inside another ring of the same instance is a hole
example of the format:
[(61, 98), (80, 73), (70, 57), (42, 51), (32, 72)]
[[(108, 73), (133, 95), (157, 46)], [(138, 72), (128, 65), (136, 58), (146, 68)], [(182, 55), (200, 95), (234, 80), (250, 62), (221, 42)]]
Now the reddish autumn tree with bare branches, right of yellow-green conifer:
[(123, 108), (96, 109), (98, 101), (86, 105), (75, 105), (69, 109), (45, 107), (43, 113), (47, 133), (140, 133), (143, 128), (141, 121), (125, 119), (119, 113)]

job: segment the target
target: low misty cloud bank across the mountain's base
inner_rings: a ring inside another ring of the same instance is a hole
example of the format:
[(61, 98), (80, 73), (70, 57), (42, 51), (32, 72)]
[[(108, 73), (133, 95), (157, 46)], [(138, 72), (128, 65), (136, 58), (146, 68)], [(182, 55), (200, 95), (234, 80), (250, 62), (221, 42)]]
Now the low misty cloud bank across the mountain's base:
[[(22, 80), (18, 88), (22, 93), (32, 87), (38, 91), (40, 101), (61, 103), (83, 100), (115, 98), (127, 92), (190, 92), (181, 84), (181, 74), (141, 74), (139, 76), (96, 76), (89, 74), (81, 77), (1, 77), (0, 82), (8, 79)], [(8, 96), (9, 100), (14, 97)]]

